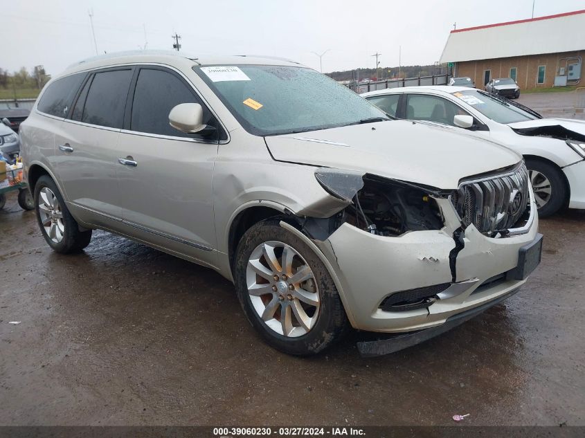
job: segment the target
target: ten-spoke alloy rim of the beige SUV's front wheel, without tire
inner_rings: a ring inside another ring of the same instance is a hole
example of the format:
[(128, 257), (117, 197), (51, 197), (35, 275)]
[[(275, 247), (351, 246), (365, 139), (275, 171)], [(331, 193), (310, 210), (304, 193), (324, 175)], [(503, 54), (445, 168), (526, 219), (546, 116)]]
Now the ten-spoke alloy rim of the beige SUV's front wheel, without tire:
[(277, 334), (307, 334), (319, 315), (319, 291), (309, 264), (292, 246), (266, 241), (251, 253), (246, 285), (252, 307)]

